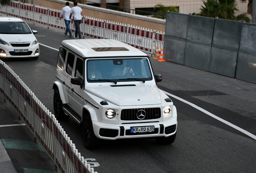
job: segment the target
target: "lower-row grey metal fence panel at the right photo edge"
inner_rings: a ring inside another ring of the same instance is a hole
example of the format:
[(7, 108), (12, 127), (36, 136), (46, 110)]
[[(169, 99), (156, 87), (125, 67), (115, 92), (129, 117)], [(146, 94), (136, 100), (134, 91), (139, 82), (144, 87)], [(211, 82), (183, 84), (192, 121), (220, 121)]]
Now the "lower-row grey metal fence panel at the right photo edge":
[(235, 78), (256, 83), (256, 54), (238, 52)]

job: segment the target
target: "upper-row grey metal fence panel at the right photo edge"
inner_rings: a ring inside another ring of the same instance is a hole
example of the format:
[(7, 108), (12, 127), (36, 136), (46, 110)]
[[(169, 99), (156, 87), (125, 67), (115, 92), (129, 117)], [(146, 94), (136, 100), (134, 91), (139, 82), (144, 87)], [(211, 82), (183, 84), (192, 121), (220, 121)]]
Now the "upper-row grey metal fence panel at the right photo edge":
[(256, 54), (256, 25), (243, 23), (239, 51)]

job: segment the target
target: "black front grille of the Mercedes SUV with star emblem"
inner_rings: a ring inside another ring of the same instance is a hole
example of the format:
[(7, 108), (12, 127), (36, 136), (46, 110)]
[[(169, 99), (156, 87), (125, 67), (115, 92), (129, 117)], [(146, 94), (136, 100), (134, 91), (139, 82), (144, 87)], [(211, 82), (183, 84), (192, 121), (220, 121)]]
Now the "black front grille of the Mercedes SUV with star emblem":
[[(145, 118), (143, 118), (142, 116), (139, 119), (137, 114), (140, 115), (141, 112), (145, 113)], [(123, 109), (121, 111), (121, 120), (123, 121), (150, 120), (150, 119), (159, 119), (160, 117), (161, 117), (160, 108)]]

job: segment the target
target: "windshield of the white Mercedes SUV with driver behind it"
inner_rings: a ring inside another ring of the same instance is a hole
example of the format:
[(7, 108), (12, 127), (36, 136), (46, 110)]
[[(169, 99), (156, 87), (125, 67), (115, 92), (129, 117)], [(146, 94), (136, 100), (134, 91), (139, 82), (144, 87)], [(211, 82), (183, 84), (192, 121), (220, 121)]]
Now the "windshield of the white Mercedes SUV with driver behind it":
[(88, 60), (88, 82), (124, 82), (152, 80), (147, 58), (112, 58)]

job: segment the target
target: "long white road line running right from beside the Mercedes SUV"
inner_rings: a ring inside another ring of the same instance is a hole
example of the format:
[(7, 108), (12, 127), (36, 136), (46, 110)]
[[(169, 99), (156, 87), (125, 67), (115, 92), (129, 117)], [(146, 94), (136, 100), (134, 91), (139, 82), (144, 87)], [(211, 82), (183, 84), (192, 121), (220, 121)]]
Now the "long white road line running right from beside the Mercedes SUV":
[(205, 113), (206, 115), (209, 115), (209, 116), (213, 117), (214, 119), (217, 119), (217, 120), (221, 121), (222, 123), (224, 123), (224, 124), (226, 124), (226, 125), (228, 125), (228, 126), (230, 126), (230, 127), (233, 127), (234, 129), (236, 129), (236, 130), (238, 130), (238, 131), (244, 133), (245, 135), (248, 135), (248, 136), (251, 137), (252, 139), (255, 139), (255, 140), (256, 140), (256, 136), (255, 136), (254, 134), (252, 134), (252, 133), (250, 133), (250, 132), (248, 132), (248, 131), (246, 131), (246, 130), (244, 130), (244, 129), (242, 129), (242, 128), (236, 126), (236, 125), (233, 125), (232, 123), (229, 123), (228, 121), (223, 120), (223, 119), (221, 119), (220, 117), (217, 117), (216, 115), (213, 115), (212, 113), (206, 111), (205, 109), (202, 109), (202, 108), (196, 106), (196, 105), (193, 104), (193, 103), (190, 103), (190, 102), (188, 102), (188, 101), (186, 101), (186, 100), (184, 100), (184, 99), (182, 99), (182, 98), (180, 98), (180, 97), (177, 97), (177, 96), (175, 96), (175, 95), (172, 95), (172, 94), (170, 94), (170, 93), (167, 93), (166, 91), (163, 91), (163, 92), (164, 92), (165, 94), (167, 94), (167, 95), (169, 95), (169, 96), (171, 96), (171, 97), (173, 97), (173, 98), (179, 100), (179, 101), (182, 101), (182, 102), (184, 102), (184, 103), (186, 103), (186, 104), (188, 104), (188, 105), (190, 105), (190, 106), (192, 106), (192, 107), (198, 109), (199, 111)]

